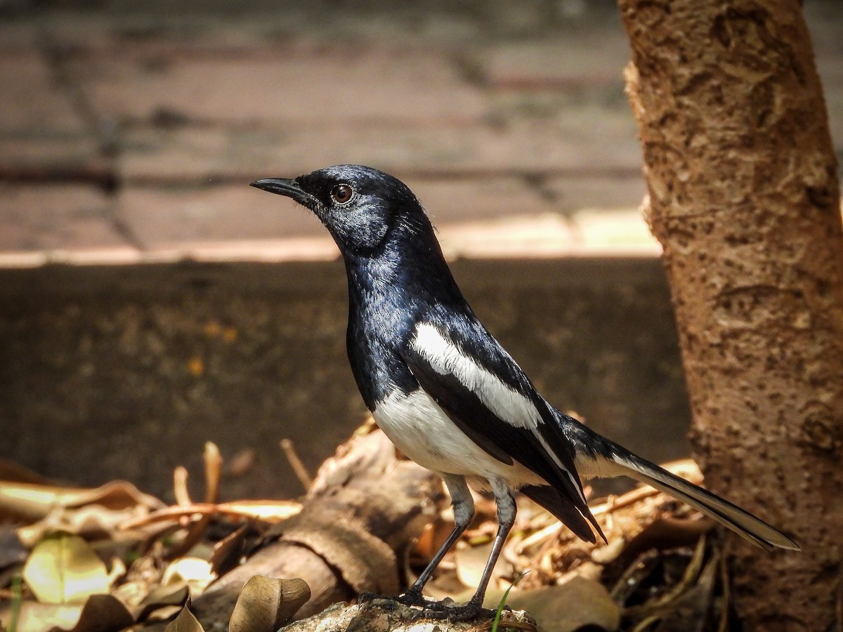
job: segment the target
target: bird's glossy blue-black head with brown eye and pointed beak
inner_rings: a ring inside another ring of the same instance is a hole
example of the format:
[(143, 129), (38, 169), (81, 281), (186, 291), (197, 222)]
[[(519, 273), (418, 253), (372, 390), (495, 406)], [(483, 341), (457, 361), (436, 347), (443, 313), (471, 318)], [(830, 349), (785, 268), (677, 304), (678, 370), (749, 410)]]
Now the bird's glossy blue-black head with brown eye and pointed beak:
[(357, 164), (318, 169), (298, 178), (266, 178), (258, 189), (286, 195), (314, 212), (343, 254), (366, 255), (390, 233), (432, 234), (416, 195), (399, 179)]

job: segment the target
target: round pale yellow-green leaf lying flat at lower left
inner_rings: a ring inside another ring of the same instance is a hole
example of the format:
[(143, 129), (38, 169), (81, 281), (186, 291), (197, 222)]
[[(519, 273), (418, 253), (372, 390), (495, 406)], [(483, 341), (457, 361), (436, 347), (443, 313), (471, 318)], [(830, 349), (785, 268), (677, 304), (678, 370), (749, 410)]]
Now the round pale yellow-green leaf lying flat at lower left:
[(105, 563), (82, 538), (54, 533), (35, 545), (24, 581), (41, 603), (81, 603), (109, 590)]

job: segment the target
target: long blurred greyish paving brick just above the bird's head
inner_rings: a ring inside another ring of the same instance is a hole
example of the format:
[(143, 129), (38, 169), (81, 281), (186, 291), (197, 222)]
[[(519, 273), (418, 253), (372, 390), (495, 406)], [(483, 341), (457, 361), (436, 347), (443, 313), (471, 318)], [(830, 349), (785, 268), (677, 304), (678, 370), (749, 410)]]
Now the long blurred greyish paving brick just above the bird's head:
[(395, 175), (637, 174), (641, 148), (631, 117), (568, 110), (556, 120), (504, 127), (330, 125), (144, 128), (126, 135), (117, 160), (126, 181), (302, 174), (360, 163)]

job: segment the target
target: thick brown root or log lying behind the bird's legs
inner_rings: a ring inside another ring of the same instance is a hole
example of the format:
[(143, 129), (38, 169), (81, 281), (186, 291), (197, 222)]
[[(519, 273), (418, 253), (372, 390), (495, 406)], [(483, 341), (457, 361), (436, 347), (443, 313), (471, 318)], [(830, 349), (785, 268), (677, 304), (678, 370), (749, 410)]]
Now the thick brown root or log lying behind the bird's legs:
[(255, 575), (307, 582), (311, 597), (296, 618), (360, 592), (398, 592), (406, 549), (444, 501), (441, 479), (396, 458), (383, 432), (355, 437), (323, 463), (280, 538), (212, 584), (191, 610), (206, 629), (227, 622)]

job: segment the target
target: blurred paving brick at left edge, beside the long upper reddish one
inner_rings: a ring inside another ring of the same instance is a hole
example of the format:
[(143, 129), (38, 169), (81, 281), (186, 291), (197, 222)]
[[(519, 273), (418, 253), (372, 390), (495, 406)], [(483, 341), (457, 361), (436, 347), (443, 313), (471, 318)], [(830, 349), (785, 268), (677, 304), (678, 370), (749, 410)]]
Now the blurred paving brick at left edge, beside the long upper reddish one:
[(0, 53), (0, 86), (0, 134), (84, 131), (82, 119), (39, 52)]

